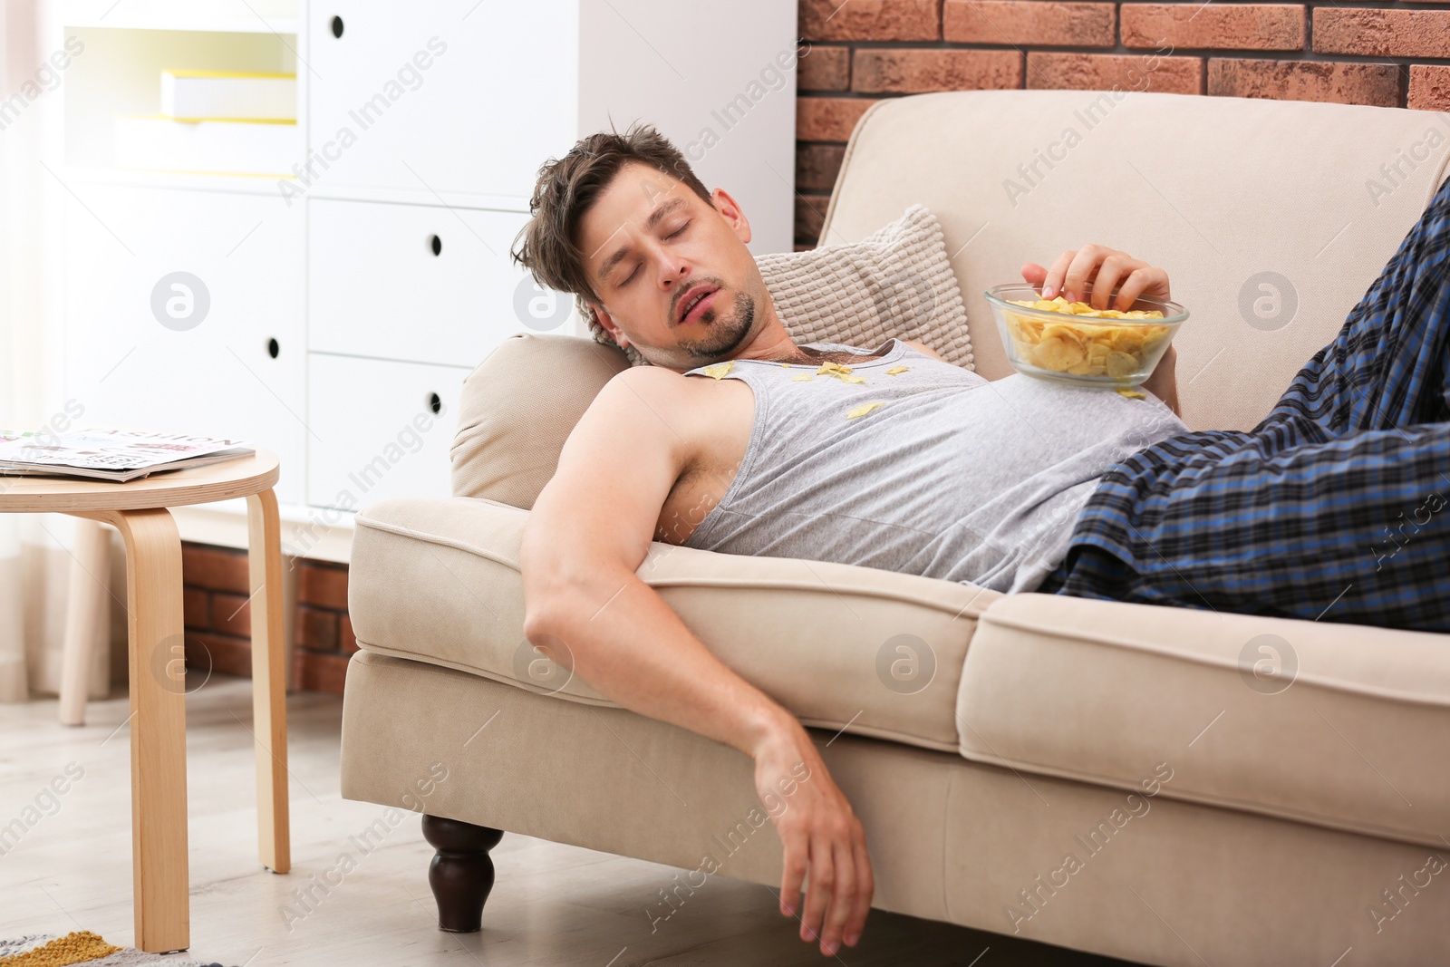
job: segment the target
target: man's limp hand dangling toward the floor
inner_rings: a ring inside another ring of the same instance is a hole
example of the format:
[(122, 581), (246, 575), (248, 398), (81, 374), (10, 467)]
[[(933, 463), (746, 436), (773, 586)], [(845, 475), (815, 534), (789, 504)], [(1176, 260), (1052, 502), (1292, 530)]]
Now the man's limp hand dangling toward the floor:
[(795, 719), (773, 729), (754, 760), (755, 792), (784, 844), (780, 912), (798, 915), (802, 880), (809, 876), (800, 939), (819, 938), (826, 957), (842, 939), (856, 947), (876, 889), (861, 821)]

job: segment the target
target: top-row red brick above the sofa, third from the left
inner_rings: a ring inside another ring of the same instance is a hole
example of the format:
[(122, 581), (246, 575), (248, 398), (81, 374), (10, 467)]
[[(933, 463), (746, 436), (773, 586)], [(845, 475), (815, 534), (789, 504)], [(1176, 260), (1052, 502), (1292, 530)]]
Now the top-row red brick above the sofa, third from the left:
[(1125, 3), (1122, 45), (1164, 49), (1302, 51), (1299, 3)]

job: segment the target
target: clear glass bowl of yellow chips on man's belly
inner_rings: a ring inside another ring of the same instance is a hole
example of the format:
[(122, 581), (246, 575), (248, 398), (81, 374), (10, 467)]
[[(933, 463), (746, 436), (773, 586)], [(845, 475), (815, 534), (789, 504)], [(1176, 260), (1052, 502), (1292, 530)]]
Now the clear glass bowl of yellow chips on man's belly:
[[(1027, 283), (993, 286), (982, 294), (1018, 373), (1089, 386), (1138, 386), (1147, 380), (1188, 319), (1188, 310), (1176, 302), (1147, 296), (1140, 296), (1128, 312), (1157, 310), (1161, 319), (1079, 316), (1019, 306), (1043, 297), (1041, 287)], [(1083, 302), (1090, 299), (1089, 287)]]

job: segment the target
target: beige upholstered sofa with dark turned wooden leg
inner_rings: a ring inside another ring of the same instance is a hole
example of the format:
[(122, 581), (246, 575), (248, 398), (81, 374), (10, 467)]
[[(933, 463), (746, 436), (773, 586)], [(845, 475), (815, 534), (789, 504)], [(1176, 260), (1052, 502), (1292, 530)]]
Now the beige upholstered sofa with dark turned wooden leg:
[[(1441, 115), (1312, 103), (889, 100), (853, 135), (822, 242), (935, 212), (989, 378), (1009, 370), (980, 293), (1024, 261), (1103, 242), (1166, 265), (1193, 312), (1185, 418), (1247, 429), (1414, 223), (1447, 138)], [(624, 365), (509, 339), (467, 386), (458, 496), (358, 518), (344, 794), (416, 808), (447, 765), (425, 821), (445, 928), (476, 928), (492, 881), (497, 835), (476, 826), (780, 880), (744, 755), (613, 706), (522, 635), (526, 509)], [(880, 909), (1150, 964), (1450, 963), (1450, 635), (661, 544), (639, 573), (818, 729)]]

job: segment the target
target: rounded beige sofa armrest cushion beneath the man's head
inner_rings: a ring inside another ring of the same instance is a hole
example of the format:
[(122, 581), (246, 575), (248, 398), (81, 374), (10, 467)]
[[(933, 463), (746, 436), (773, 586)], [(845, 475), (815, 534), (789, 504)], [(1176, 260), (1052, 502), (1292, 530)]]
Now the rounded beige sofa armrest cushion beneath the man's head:
[(628, 368), (618, 348), (577, 336), (519, 332), (500, 342), (463, 386), (454, 496), (532, 507), (574, 423)]

